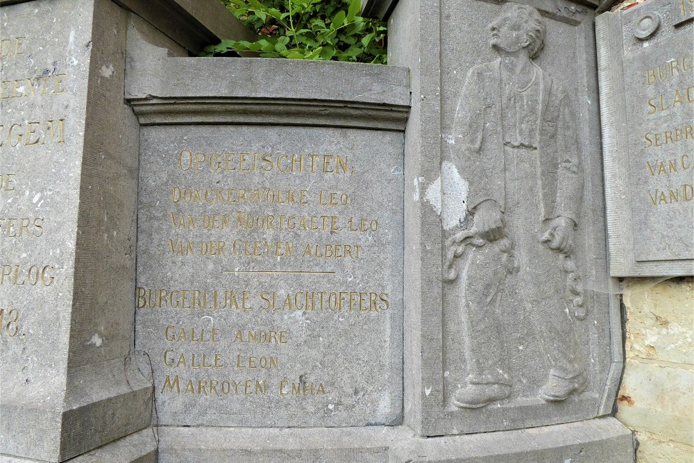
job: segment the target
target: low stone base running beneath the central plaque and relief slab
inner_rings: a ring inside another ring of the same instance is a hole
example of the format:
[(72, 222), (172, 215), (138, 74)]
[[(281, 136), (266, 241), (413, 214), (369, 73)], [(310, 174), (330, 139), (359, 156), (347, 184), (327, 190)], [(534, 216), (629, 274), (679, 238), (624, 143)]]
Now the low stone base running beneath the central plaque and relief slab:
[(158, 428), (160, 462), (239, 463), (632, 463), (630, 432), (615, 419), (532, 430), (424, 439), (405, 426), (383, 428)]

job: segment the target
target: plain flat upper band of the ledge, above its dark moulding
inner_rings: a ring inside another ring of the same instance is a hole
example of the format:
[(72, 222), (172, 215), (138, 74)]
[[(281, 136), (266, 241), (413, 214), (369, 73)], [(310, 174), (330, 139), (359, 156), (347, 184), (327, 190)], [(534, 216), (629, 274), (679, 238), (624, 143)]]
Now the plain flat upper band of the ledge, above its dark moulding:
[[(167, 58), (132, 31), (126, 99), (274, 98), (409, 106), (409, 69), (273, 58)], [(321, 82), (321, 85), (315, 85)]]

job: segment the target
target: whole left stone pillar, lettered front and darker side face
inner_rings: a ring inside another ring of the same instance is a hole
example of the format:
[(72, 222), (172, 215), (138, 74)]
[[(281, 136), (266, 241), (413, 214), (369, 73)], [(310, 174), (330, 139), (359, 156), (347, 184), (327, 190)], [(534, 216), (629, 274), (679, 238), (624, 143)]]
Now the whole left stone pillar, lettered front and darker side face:
[(151, 383), (128, 360), (139, 133), (123, 99), (130, 15), (105, 0), (0, 8), (3, 455), (64, 461), (151, 421)]

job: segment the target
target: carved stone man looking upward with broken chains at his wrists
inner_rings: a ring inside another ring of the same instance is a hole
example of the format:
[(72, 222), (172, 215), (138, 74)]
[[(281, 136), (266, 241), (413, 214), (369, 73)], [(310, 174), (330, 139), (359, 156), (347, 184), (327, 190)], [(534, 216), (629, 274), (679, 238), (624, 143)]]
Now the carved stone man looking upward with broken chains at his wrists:
[(457, 285), (466, 332), (466, 384), (457, 407), (511, 394), (499, 313), (517, 278), (523, 310), (541, 339), (548, 378), (539, 396), (563, 401), (586, 387), (587, 361), (575, 333), (586, 317), (573, 235), (582, 197), (570, 101), (533, 61), (545, 24), (530, 6), (507, 3), (489, 26), (500, 58), (473, 67), (455, 113), (452, 162), (469, 182), (472, 228), (448, 237), (443, 278)]

